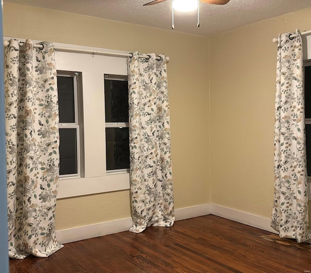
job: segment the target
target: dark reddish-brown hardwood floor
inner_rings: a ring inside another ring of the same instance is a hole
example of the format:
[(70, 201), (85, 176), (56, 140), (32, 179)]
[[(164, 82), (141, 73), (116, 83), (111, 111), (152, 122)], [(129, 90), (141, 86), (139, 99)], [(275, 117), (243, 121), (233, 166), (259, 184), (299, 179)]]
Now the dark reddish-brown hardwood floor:
[(311, 245), (217, 216), (65, 244), (48, 258), (10, 260), (10, 273), (307, 273)]

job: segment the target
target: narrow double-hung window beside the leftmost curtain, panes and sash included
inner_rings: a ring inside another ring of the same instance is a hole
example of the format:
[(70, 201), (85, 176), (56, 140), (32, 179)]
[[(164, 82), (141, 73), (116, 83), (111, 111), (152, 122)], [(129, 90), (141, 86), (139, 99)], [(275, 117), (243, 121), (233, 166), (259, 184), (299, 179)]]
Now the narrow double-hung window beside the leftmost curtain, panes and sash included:
[(57, 71), (60, 177), (81, 175), (81, 73)]

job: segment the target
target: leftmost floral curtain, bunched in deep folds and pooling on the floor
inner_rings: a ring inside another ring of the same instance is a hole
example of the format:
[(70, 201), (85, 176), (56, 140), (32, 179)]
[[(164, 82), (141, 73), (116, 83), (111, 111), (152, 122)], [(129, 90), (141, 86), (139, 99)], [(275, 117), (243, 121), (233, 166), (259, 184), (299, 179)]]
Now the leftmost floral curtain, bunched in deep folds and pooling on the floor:
[(47, 257), (56, 242), (58, 100), (52, 44), (10, 40), (4, 56), (9, 256)]

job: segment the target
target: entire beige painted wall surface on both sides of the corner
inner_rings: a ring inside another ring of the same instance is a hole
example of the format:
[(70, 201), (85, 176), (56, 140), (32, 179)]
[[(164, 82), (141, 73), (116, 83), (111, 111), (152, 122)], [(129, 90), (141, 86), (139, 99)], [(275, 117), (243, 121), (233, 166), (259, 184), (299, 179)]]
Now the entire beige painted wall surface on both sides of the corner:
[[(213, 202), (269, 218), (276, 74), (272, 38), (296, 27), (309, 30), (310, 14), (305, 9), (208, 39), (4, 2), (3, 33), (169, 55), (175, 208)], [(128, 191), (69, 198), (57, 202), (56, 228), (127, 217)]]

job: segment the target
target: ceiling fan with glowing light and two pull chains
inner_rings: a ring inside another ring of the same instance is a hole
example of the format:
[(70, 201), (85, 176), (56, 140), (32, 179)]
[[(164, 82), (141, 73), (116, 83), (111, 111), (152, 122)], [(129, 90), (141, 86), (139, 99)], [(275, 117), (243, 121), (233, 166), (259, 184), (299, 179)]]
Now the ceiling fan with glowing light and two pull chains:
[[(153, 0), (144, 4), (143, 6), (151, 6), (166, 0)], [(199, 1), (207, 4), (214, 4), (214, 5), (225, 5), (230, 0), (172, 0), (172, 29), (174, 29), (174, 10), (187, 12), (197, 9), (198, 11), (198, 24), (197, 27), (200, 27), (199, 22)]]

